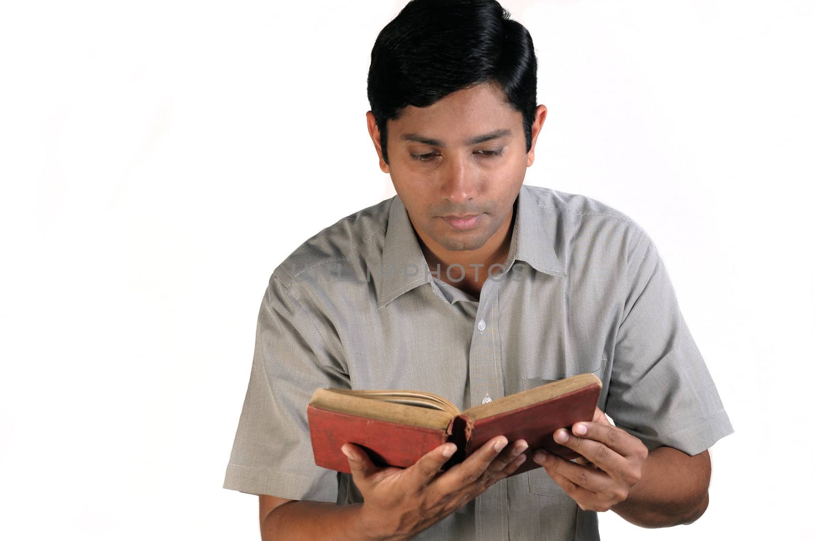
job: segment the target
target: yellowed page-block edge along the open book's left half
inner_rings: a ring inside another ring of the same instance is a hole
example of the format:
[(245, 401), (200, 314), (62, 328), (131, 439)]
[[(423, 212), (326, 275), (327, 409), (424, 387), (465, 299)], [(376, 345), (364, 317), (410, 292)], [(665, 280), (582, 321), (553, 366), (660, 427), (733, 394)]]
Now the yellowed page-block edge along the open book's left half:
[(456, 413), (448, 411), (372, 400), (352, 394), (337, 393), (336, 390), (317, 389), (309, 404), (352, 416), (407, 424), (408, 426), (418, 426), (425, 429), (447, 429), (447, 425), (456, 416)]

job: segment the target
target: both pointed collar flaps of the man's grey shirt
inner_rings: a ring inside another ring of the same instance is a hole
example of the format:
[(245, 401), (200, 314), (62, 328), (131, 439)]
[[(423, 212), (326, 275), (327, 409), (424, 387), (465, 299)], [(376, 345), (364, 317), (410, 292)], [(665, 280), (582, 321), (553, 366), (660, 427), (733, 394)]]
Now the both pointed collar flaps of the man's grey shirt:
[[(566, 276), (553, 248), (553, 235), (546, 227), (546, 218), (554, 217), (545, 216), (541, 210), (530, 188), (522, 185), (513, 209), (515, 225), (506, 268), (511, 268), (516, 261), (524, 261), (535, 271)], [(398, 195), (391, 200), (379, 271), (377, 306), (380, 308), (413, 288), (432, 283), (425, 254)]]

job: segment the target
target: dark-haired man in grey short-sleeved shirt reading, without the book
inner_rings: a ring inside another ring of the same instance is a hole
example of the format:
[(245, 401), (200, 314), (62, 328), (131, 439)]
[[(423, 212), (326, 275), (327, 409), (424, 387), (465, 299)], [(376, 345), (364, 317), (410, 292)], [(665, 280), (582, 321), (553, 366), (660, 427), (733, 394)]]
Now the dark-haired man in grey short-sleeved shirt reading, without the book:
[[(596, 200), (523, 185), (546, 118), (529, 33), (493, 1), (414, 0), (368, 75), (368, 133), (397, 196), (341, 219), (271, 276), (226, 488), (263, 539), (599, 539), (707, 508), (707, 449), (732, 433), (659, 254)], [(352, 475), (315, 466), (315, 389), (425, 389), (460, 409), (593, 372), (586, 460), (493, 438), (441, 472), (438, 446)], [(615, 425), (607, 420), (609, 414)], [(541, 468), (508, 477), (524, 460)]]

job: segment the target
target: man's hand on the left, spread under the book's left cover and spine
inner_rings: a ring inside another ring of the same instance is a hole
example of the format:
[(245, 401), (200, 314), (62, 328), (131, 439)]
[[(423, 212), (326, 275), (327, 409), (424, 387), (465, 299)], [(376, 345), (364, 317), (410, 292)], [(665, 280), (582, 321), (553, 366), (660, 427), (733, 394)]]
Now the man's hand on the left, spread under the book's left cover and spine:
[(441, 474), (455, 443), (443, 443), (409, 468), (379, 468), (352, 443), (342, 452), (365, 499), (360, 512), (365, 531), (375, 539), (396, 540), (411, 539), (512, 474), (526, 459), (521, 455), (526, 447), (523, 440), (507, 446), (507, 438), (496, 436)]

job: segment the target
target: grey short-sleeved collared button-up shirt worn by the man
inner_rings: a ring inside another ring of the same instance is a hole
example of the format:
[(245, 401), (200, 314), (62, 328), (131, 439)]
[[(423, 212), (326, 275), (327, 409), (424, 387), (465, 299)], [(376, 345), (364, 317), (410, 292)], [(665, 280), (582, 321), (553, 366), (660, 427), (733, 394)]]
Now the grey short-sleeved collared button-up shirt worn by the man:
[[(306, 240), (269, 280), (223, 486), (350, 504), (314, 464), (315, 389), (421, 389), (461, 410), (593, 372), (598, 407), (649, 450), (696, 455), (733, 432), (654, 243), (585, 196), (522, 186), (504, 266), (478, 300), (428, 268), (394, 196)], [(458, 273), (452, 272), (452, 278)], [(544, 468), (503, 479), (414, 539), (599, 539)]]

